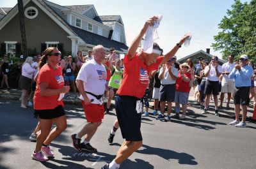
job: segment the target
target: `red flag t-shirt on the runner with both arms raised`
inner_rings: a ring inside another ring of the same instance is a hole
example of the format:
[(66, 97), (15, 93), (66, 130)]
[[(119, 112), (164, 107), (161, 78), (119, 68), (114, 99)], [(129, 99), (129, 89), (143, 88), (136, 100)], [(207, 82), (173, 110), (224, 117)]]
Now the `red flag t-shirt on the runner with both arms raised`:
[(155, 63), (147, 66), (141, 61), (138, 54), (131, 60), (126, 54), (124, 57), (124, 74), (117, 94), (120, 96), (142, 98), (148, 85), (148, 73), (157, 70), (162, 61), (163, 57), (159, 56)]

